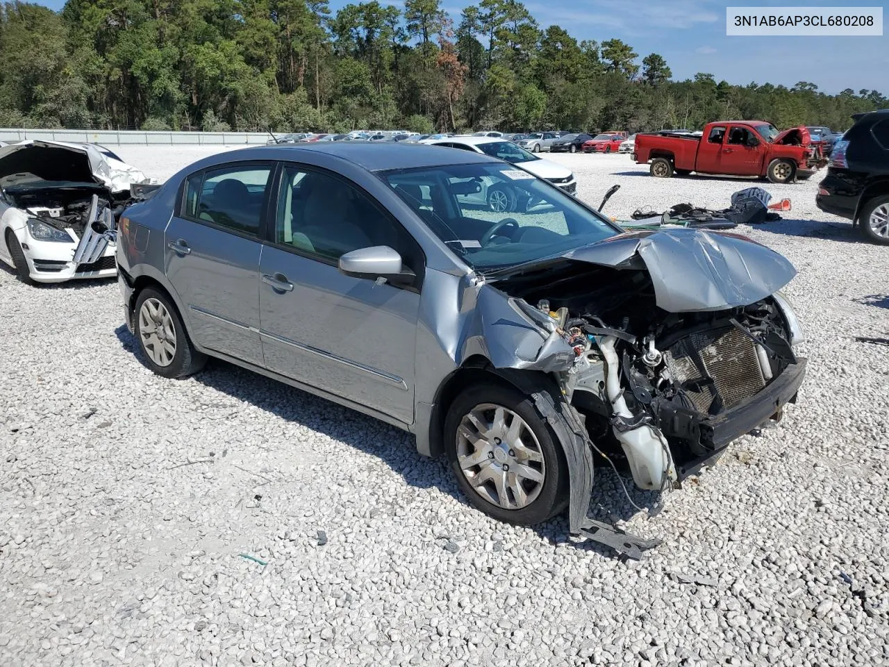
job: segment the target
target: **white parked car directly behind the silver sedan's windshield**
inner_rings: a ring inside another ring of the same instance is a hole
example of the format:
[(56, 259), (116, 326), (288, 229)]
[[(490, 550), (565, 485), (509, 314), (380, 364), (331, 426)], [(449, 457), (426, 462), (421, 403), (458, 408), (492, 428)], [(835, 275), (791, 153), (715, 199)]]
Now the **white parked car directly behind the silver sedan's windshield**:
[[(573, 195), (577, 191), (577, 181), (574, 180), (574, 174), (568, 167), (535, 156), (512, 141), (492, 137), (451, 137), (436, 141), (433, 145), (471, 150), (475, 153), (496, 157), (509, 162), (510, 165), (520, 166), (538, 178), (549, 181), (569, 195)], [(524, 211), (529, 205), (530, 197), (530, 194), (528, 197), (520, 196), (521, 193), (515, 188), (503, 188), (499, 185), (485, 188), (479, 195), (483, 197), (488, 207), (497, 213)]]

